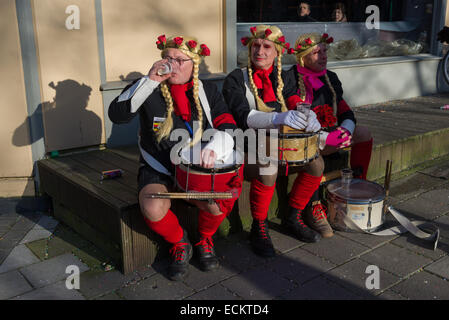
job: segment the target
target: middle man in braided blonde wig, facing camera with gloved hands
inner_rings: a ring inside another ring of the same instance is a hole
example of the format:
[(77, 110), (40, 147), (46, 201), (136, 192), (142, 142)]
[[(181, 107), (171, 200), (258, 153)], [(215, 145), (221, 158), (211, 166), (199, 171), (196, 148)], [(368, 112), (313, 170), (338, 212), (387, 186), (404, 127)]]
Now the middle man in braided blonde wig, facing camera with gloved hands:
[[(223, 84), (223, 96), (239, 128), (278, 129), (281, 125), (306, 132), (317, 132), (320, 125), (314, 112), (308, 116), (296, 110), (299, 96), (292, 78), (282, 70), (282, 55), (289, 44), (276, 26), (258, 25), (241, 39), (248, 47), (248, 66), (232, 71)], [(294, 110), (289, 110), (294, 109)], [(258, 146), (265, 141), (258, 141)], [(249, 149), (250, 147), (248, 147)], [(289, 196), (289, 212), (283, 224), (302, 241), (316, 242), (319, 233), (303, 221), (302, 210), (320, 185), (324, 163), (321, 156), (302, 167), (290, 168), (298, 173)], [(250, 206), (253, 218), (250, 241), (253, 251), (265, 257), (275, 255), (268, 233), (267, 214), (276, 187), (278, 166), (272, 172), (264, 165), (246, 162), (245, 178), (251, 181)]]

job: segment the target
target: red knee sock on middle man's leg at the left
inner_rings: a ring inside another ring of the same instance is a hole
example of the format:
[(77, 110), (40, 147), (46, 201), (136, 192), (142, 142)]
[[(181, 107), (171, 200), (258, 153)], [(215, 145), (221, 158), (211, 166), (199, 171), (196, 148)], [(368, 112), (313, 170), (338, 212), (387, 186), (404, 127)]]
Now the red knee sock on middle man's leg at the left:
[(265, 220), (268, 216), (271, 198), (273, 198), (276, 183), (273, 186), (266, 186), (257, 179), (251, 181), (249, 191), (249, 202), (253, 219)]

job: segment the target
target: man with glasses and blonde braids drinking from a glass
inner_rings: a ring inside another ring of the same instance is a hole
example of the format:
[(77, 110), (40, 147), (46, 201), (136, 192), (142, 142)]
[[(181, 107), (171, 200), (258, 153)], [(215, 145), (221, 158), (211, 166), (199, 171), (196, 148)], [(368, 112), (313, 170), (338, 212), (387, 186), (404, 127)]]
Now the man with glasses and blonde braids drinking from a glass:
[[(182, 280), (188, 273), (193, 250), (187, 232), (170, 210), (170, 199), (153, 199), (147, 195), (168, 192), (174, 185), (175, 168), (170, 156), (178, 139), (170, 139), (173, 130), (186, 130), (190, 146), (193, 146), (201, 142), (206, 129), (216, 129), (200, 156), (202, 167), (213, 168), (216, 160), (233, 149), (233, 139), (224, 130), (236, 129), (236, 124), (216, 85), (198, 79), (201, 59), (210, 55), (209, 48), (200, 45), (195, 38), (181, 36), (166, 38), (162, 35), (156, 44), (162, 51), (162, 60), (153, 64), (147, 76), (127, 86), (112, 101), (108, 114), (117, 124), (127, 123), (139, 115), (141, 212), (148, 227), (172, 245), (168, 277)], [(241, 184), (233, 187), (241, 188)], [(212, 236), (232, 210), (235, 200), (189, 200), (200, 209), (200, 241), (195, 244), (195, 250), (203, 271), (219, 266)]]

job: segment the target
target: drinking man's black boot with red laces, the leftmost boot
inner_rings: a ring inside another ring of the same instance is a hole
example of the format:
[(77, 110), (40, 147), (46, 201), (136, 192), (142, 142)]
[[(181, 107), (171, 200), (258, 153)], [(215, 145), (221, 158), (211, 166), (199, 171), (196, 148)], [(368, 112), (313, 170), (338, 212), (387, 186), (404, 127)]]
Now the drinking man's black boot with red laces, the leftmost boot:
[(170, 249), (171, 261), (168, 266), (168, 277), (170, 280), (181, 281), (187, 276), (192, 252), (192, 245), (187, 237), (187, 232), (184, 230), (182, 239)]

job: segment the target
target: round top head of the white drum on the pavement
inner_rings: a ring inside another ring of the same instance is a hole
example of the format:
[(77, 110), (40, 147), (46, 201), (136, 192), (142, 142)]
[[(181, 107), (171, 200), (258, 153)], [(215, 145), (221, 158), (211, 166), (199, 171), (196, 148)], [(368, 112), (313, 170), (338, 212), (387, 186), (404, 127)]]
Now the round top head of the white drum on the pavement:
[(341, 179), (332, 181), (327, 186), (332, 197), (354, 204), (367, 204), (385, 199), (384, 188), (375, 182), (361, 179), (351, 179), (349, 183), (342, 183)]

